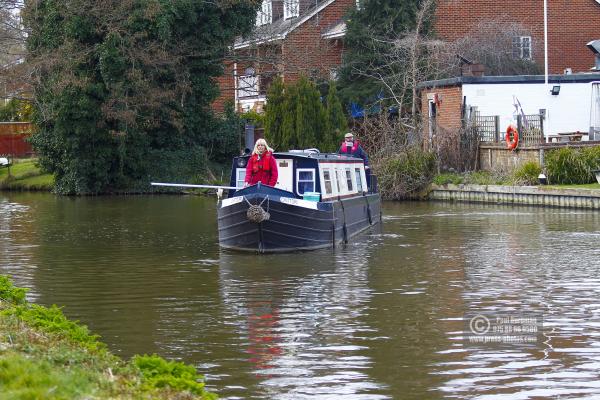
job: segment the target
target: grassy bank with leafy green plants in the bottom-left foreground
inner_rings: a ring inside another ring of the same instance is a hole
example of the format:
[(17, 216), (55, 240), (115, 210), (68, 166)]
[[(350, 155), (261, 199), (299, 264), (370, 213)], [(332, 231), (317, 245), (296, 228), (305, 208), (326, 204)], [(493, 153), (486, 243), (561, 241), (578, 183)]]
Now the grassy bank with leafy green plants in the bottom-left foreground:
[(30, 304), (0, 275), (3, 399), (216, 399), (192, 366), (158, 356), (124, 361), (56, 306)]

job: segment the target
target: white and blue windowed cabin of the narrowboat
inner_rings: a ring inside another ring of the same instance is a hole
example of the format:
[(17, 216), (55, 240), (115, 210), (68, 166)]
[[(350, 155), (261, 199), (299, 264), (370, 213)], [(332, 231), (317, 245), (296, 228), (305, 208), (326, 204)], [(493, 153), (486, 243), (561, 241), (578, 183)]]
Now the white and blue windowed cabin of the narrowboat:
[[(290, 150), (273, 156), (278, 167), (275, 187), (291, 192), (295, 198), (333, 201), (369, 192), (368, 176), (360, 158), (315, 150)], [(244, 187), (249, 158), (234, 158), (230, 186)], [(229, 197), (234, 196), (235, 191), (230, 190)]]

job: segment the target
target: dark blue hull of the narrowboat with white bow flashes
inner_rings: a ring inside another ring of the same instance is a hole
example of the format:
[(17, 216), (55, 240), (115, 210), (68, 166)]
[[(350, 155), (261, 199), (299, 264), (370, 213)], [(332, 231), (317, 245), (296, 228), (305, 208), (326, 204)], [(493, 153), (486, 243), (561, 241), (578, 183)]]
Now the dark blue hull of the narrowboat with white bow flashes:
[[(295, 204), (294, 204), (295, 203)], [(261, 205), (269, 219), (248, 220), (250, 205)], [(283, 252), (334, 247), (381, 222), (378, 194), (332, 202), (294, 199), (289, 192), (254, 186), (219, 202), (219, 244), (223, 248)]]

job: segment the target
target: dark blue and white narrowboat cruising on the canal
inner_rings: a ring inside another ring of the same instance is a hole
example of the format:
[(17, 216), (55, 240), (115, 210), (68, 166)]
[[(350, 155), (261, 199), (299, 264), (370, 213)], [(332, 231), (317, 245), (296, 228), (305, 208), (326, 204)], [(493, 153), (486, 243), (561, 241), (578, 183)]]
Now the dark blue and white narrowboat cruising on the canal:
[(275, 187), (244, 187), (249, 156), (234, 158), (235, 189), (217, 205), (221, 247), (261, 253), (335, 247), (381, 222), (376, 177), (362, 159), (316, 149), (274, 157)]

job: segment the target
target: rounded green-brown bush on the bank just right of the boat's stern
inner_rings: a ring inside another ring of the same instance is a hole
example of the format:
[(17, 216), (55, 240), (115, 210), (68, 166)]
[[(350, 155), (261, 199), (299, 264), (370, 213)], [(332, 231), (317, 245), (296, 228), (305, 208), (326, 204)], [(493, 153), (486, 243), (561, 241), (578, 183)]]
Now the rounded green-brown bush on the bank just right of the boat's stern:
[(435, 154), (417, 148), (383, 160), (376, 168), (382, 197), (418, 197), (432, 182), (435, 164)]

